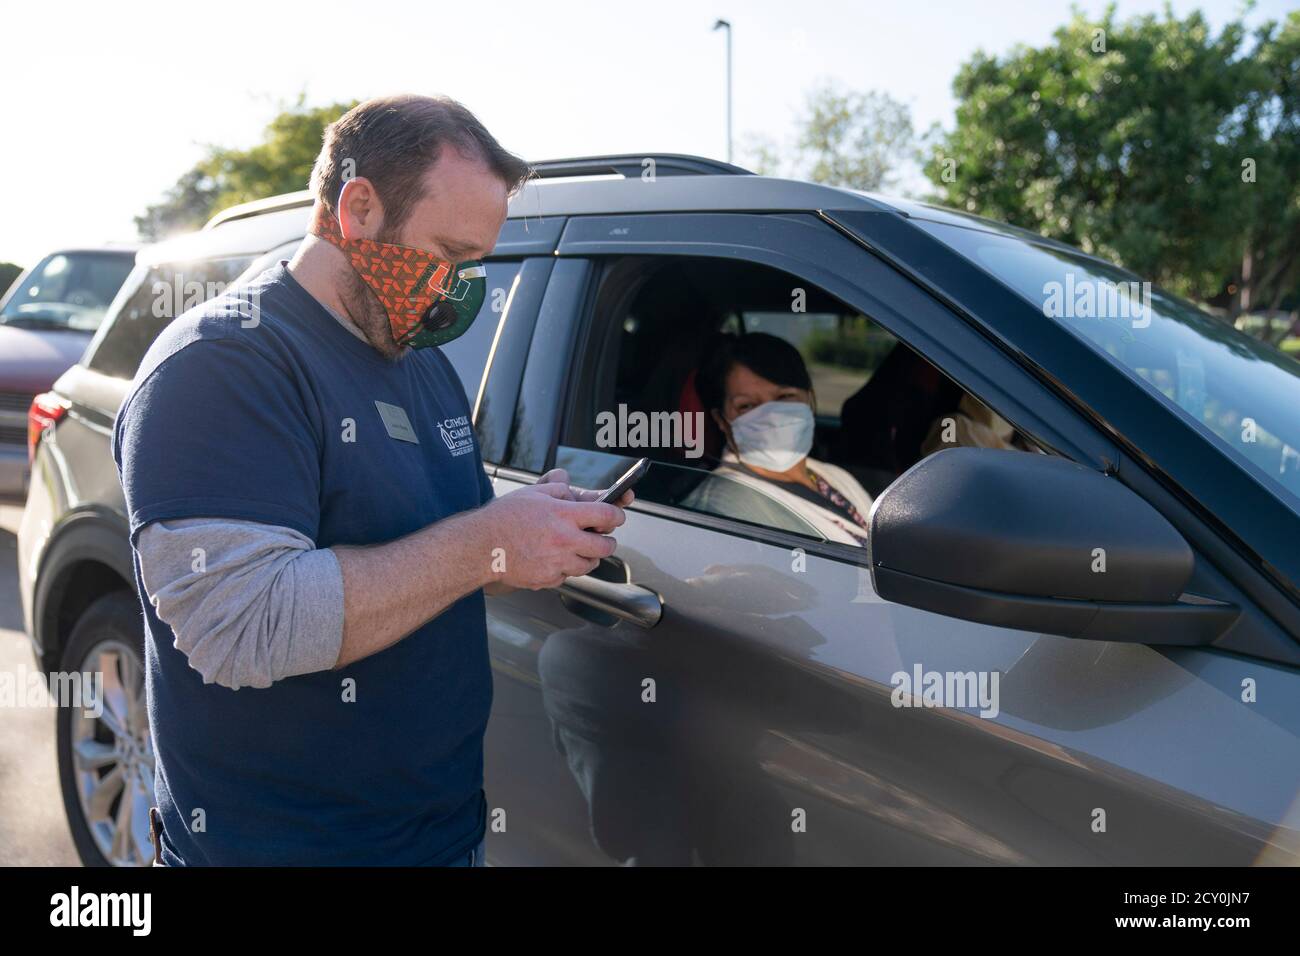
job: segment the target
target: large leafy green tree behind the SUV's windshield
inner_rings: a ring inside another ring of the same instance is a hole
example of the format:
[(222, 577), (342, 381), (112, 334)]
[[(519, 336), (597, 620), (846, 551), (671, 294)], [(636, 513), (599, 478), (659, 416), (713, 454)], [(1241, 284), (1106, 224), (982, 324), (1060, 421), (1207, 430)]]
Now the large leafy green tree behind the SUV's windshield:
[(1234, 313), (1277, 308), (1300, 281), (1297, 75), (1300, 13), (1216, 35), (1200, 13), (1076, 12), (1041, 49), (961, 68), (926, 173), (950, 206)]

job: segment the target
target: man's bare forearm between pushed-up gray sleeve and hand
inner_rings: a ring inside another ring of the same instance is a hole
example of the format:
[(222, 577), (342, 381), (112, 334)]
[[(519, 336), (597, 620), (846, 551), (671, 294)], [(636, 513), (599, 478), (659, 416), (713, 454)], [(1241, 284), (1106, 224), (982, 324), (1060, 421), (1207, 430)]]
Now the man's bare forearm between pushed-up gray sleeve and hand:
[(484, 509), (387, 544), (332, 550), (343, 572), (343, 644), (335, 669), (396, 644), (497, 578)]

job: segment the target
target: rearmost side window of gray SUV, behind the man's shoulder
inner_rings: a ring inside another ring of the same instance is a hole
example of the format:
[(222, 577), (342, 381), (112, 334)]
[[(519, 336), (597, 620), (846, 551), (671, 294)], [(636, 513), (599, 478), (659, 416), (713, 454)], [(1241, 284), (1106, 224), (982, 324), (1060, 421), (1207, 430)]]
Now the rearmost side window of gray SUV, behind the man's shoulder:
[(87, 365), (116, 378), (134, 377), (159, 333), (186, 310), (225, 293), (250, 261), (250, 256), (231, 256), (151, 268), (117, 313), (108, 316)]

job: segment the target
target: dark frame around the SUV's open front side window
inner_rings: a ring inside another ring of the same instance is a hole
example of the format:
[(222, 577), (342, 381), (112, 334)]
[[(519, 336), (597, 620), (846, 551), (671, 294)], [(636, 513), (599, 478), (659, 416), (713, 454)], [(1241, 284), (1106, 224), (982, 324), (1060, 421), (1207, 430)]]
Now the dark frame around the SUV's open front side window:
[[(1041, 446), (1097, 470), (1115, 460), (1114, 446), (1041, 382), (944, 304), (814, 213), (636, 213), (568, 220), (519, 397), (521, 407), (529, 399), (549, 399), (550, 405), (541, 414), (528, 408), (529, 421), (516, 416), (512, 427), (515, 436), (525, 428), (545, 431), (546, 451), (540, 455), (541, 442), (534, 441), (528, 454), (517, 454), (517, 442), (512, 441), (497, 470), (503, 477), (532, 481), (554, 467), (563, 424), (575, 412), (578, 384), (590, 382), (593, 362), (598, 360), (588, 354), (588, 345), (603, 341), (594, 312), (610, 260), (629, 256), (731, 259), (785, 272), (861, 311)], [(677, 506), (638, 499), (632, 507), (840, 562), (866, 564), (870, 559), (864, 548)]]

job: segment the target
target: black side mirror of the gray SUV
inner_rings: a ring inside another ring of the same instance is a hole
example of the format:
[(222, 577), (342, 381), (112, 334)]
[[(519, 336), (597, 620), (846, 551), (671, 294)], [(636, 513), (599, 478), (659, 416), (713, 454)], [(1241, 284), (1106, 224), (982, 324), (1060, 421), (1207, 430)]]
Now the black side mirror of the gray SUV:
[(1238, 615), (1186, 594), (1192, 549), (1118, 480), (1063, 458), (954, 447), (871, 509), (871, 579), (887, 601), (1087, 640), (1209, 644)]

